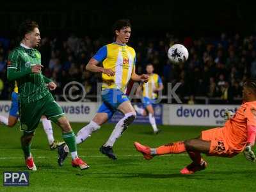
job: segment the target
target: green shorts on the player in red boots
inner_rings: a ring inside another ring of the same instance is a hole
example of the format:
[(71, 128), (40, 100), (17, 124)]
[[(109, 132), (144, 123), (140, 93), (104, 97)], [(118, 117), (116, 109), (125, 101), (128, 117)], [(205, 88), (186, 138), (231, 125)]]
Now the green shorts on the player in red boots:
[(51, 93), (40, 100), (29, 104), (20, 103), (20, 131), (34, 132), (42, 115), (56, 123), (58, 118), (64, 116), (63, 110), (53, 99)]

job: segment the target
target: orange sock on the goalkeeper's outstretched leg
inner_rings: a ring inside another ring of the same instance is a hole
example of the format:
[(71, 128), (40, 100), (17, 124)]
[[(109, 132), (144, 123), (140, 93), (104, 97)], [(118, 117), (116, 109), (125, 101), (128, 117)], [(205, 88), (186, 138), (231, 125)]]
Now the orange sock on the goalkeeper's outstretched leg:
[(183, 141), (178, 141), (176, 143), (169, 143), (156, 148), (157, 155), (179, 154), (185, 151), (186, 151), (186, 148)]

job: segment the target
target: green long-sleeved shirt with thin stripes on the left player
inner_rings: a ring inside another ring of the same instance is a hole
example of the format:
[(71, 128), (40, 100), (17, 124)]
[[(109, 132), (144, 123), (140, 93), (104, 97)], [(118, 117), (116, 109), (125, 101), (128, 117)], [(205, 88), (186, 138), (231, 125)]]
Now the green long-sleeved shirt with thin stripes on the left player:
[(41, 54), (36, 49), (29, 49), (23, 44), (10, 52), (7, 63), (7, 79), (17, 81), (19, 100), (23, 104), (35, 102), (48, 94), (45, 83), (51, 79), (40, 73), (32, 73), (31, 66), (41, 64)]

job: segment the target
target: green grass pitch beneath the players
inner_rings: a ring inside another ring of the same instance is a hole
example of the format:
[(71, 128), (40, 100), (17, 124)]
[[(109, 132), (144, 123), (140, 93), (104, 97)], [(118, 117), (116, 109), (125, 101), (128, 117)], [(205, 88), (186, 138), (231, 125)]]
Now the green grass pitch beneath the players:
[[(84, 124), (72, 124), (77, 132)], [(254, 191), (256, 164), (246, 161), (243, 154), (231, 159), (205, 157), (206, 170), (194, 175), (180, 175), (179, 170), (191, 163), (186, 154), (173, 154), (143, 159), (133, 147), (134, 141), (157, 147), (170, 141), (195, 138), (203, 129), (195, 126), (159, 126), (163, 131), (152, 134), (150, 125), (131, 125), (116, 141), (113, 161), (99, 152), (113, 124), (106, 124), (78, 146), (79, 155), (90, 164), (88, 170), (72, 168), (70, 156), (63, 167), (56, 163), (56, 150), (49, 150), (42, 124), (36, 129), (32, 153), (36, 172), (29, 172), (28, 187), (3, 187), (4, 171), (27, 171), (20, 149), (18, 125), (0, 125), (0, 191)], [(54, 125), (54, 136), (61, 140), (61, 131)]]

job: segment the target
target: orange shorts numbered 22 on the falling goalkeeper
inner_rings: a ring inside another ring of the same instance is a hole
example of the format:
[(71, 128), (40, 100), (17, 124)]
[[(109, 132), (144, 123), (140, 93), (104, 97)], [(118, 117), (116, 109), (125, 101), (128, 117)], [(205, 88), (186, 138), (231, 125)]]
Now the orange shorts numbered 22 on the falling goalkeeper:
[(233, 157), (237, 155), (237, 152), (231, 150), (225, 141), (221, 127), (202, 131), (201, 134), (202, 140), (211, 141), (208, 156)]

